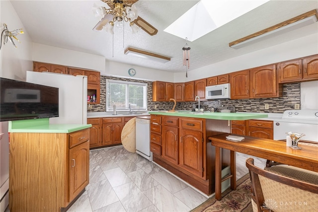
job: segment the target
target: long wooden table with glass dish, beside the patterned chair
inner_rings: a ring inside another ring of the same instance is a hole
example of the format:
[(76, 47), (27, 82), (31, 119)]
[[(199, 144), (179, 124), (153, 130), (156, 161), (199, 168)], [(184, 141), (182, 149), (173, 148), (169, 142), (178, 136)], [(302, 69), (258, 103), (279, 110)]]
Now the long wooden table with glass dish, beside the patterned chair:
[[(226, 137), (231, 134), (211, 136), (211, 144), (216, 146), (215, 160), (215, 199), (221, 200), (221, 183), (231, 178), (231, 189), (236, 189), (236, 151), (256, 157), (281, 162), (318, 172), (318, 147), (299, 144), (302, 149), (293, 149), (286, 146), (285, 141), (275, 141), (243, 136), (242, 141), (230, 141)], [(238, 136), (238, 135), (236, 135)], [(231, 151), (231, 175), (221, 178), (222, 171), (222, 149)]]

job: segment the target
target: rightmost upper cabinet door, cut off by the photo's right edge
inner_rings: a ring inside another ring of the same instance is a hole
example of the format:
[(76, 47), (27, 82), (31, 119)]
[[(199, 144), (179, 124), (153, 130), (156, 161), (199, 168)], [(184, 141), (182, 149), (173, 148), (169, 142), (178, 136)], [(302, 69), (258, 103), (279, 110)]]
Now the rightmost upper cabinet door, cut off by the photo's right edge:
[(303, 79), (318, 79), (318, 55), (303, 59)]

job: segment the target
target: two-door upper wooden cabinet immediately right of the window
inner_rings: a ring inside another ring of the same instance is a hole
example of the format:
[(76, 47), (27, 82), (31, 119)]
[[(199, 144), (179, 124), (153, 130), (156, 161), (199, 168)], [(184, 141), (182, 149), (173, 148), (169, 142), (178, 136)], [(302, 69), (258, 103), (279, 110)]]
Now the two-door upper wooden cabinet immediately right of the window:
[(173, 82), (153, 82), (153, 101), (169, 101), (174, 97), (174, 83)]

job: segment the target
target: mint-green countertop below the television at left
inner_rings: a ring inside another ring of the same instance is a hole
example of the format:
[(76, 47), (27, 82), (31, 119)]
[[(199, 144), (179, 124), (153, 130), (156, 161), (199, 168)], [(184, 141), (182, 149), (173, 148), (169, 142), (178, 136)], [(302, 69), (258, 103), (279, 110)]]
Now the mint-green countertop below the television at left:
[(9, 121), (9, 133), (72, 133), (90, 128), (91, 124), (49, 124), (49, 119)]

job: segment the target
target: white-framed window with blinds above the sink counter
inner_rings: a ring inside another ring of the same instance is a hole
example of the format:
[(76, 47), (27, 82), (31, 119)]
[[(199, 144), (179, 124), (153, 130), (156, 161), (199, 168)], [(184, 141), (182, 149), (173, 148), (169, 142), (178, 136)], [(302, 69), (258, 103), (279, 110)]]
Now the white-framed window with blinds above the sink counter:
[(147, 110), (147, 83), (106, 80), (106, 111)]

